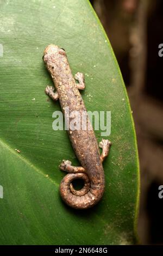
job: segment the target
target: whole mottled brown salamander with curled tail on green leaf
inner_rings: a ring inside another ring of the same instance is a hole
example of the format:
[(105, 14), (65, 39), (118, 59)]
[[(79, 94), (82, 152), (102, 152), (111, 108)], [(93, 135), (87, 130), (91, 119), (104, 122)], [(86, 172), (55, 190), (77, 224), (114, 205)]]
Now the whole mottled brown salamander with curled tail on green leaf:
[[(78, 89), (84, 89), (84, 76), (77, 73), (75, 78), (72, 75), (70, 65), (66, 57), (65, 50), (55, 45), (49, 45), (45, 48), (43, 61), (46, 68), (52, 76), (57, 92), (53, 92), (53, 87), (47, 87), (45, 92), (53, 100), (59, 98), (62, 112), (65, 107), (71, 111), (86, 111), (82, 96)], [(87, 124), (90, 121), (87, 117)], [(76, 209), (87, 209), (97, 204), (101, 200), (104, 188), (105, 178), (102, 162), (109, 153), (110, 142), (108, 139), (102, 140), (99, 147), (103, 148), (102, 155), (99, 154), (99, 148), (95, 133), (92, 130), (68, 130), (72, 147), (78, 157), (81, 167), (74, 167), (70, 161), (63, 160), (60, 169), (68, 174), (62, 179), (60, 184), (60, 194), (64, 202)], [(73, 188), (74, 179), (83, 179), (84, 187), (77, 191)]]

